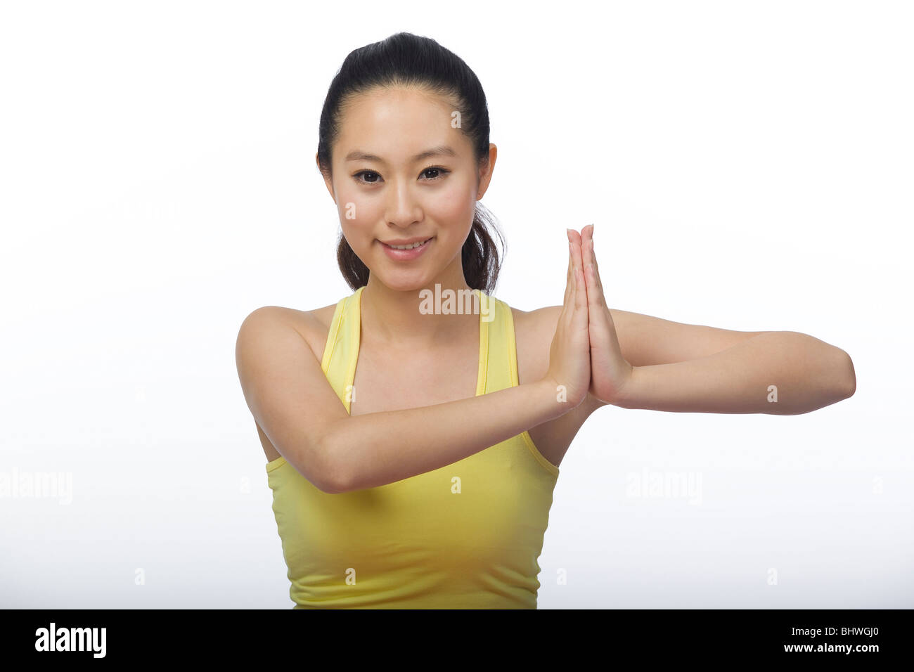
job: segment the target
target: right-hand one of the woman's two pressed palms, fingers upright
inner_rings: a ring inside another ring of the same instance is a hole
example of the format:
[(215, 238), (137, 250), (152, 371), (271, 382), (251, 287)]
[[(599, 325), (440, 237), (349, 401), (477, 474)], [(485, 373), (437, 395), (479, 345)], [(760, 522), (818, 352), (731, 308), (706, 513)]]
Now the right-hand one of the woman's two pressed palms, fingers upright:
[(603, 295), (600, 270), (593, 253), (593, 225), (588, 224), (580, 236), (581, 261), (587, 286), (587, 304), (590, 324), (590, 394), (604, 403), (619, 400), (622, 389), (632, 379), (632, 365), (622, 357), (622, 348), (612, 324), (610, 308)]

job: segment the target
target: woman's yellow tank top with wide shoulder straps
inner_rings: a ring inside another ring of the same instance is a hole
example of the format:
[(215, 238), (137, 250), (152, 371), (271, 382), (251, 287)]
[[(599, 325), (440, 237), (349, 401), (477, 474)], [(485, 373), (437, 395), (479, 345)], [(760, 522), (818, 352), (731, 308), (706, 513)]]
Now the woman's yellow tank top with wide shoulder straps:
[[(363, 289), (336, 304), (321, 362), (346, 412)], [(518, 384), (517, 357), (510, 307), (473, 292), (487, 302), (480, 304), (479, 396)], [(266, 468), (294, 609), (537, 608), (537, 559), (558, 467), (528, 432), (354, 492), (325, 493), (283, 457)]]

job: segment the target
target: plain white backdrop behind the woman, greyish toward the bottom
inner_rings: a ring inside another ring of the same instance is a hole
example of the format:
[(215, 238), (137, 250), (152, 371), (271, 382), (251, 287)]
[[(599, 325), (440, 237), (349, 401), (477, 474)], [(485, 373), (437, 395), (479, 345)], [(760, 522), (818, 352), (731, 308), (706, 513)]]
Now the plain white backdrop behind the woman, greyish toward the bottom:
[(0, 606), (292, 606), (235, 339), (350, 293), (318, 118), (400, 30), (486, 91), (496, 296), (561, 303), (593, 223), (612, 307), (856, 367), (808, 414), (597, 411), (539, 607), (914, 606), (909, 3), (0, 7), (0, 476), (72, 484), (0, 497)]

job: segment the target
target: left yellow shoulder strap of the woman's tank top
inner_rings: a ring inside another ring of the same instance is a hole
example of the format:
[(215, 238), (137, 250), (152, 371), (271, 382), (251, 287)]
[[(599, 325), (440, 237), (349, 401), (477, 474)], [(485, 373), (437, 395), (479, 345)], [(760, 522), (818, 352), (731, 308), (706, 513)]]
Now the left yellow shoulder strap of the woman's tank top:
[(336, 303), (330, 330), (327, 333), (327, 342), (324, 345), (324, 357), (321, 360), (324, 375), (336, 396), (343, 402), (347, 413), (351, 412), (352, 380), (358, 361), (361, 298), (364, 289), (363, 285)]

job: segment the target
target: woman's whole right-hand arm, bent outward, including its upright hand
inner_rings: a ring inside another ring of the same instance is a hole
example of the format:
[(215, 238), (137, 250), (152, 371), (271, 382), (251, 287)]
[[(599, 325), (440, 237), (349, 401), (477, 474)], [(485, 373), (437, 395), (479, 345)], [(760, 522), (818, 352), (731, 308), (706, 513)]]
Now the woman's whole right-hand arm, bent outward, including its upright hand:
[(854, 394), (851, 358), (813, 336), (736, 332), (611, 311), (593, 253), (592, 226), (585, 227), (582, 246), (590, 391), (598, 400), (654, 411), (794, 415)]

